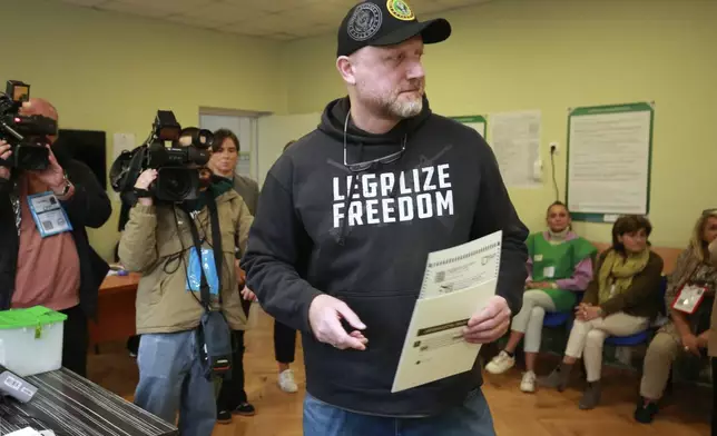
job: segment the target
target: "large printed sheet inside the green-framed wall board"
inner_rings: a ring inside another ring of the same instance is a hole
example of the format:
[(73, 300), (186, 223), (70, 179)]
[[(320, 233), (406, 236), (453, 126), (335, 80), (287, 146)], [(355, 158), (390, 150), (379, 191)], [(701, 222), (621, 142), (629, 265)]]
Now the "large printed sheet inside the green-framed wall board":
[(570, 210), (647, 214), (652, 112), (639, 105), (603, 110), (570, 116)]

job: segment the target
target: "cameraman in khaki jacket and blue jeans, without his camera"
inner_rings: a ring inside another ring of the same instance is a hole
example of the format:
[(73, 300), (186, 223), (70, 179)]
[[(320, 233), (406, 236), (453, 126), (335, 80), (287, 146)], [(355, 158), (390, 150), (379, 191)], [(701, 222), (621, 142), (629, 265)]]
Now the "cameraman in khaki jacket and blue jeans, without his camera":
[[(135, 189), (150, 191), (156, 178), (157, 170), (145, 170)], [(141, 339), (135, 403), (169, 423), (175, 422), (179, 409), (179, 432), (185, 436), (209, 436), (216, 423), (214, 384), (205, 377), (197, 347), (204, 307), (200, 294), (187, 289), (189, 252), (194, 247), (189, 214), (194, 216), (203, 250), (215, 245), (212, 235), (217, 230), (212, 229), (209, 196), (216, 201), (222, 235), (220, 308), (232, 330), (245, 329), (247, 318), (237, 291), (234, 250), (235, 241), (242, 254), (246, 250), (253, 218), (229, 180), (212, 177), (198, 201), (176, 206), (139, 198), (129, 210), (119, 241), (121, 262), (128, 270), (143, 275), (136, 301), (137, 334)], [(216, 308), (217, 296), (213, 297)]]

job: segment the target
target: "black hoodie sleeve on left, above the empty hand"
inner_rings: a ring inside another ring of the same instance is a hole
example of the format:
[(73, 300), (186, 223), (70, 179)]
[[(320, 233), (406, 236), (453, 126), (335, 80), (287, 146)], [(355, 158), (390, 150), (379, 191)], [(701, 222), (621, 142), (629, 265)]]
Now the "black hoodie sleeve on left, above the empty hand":
[(264, 310), (282, 324), (310, 331), (308, 308), (322, 293), (299, 275), (311, 255), (311, 239), (294, 210), (289, 180), (291, 161), (279, 158), (262, 188), (242, 268)]

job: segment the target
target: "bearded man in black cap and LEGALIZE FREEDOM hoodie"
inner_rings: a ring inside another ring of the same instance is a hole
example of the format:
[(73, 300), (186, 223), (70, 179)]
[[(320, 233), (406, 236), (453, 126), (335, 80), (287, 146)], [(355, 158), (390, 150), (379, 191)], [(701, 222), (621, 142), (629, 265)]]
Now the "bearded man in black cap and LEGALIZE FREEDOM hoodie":
[(464, 329), (494, 341), (522, 304), (528, 229), (474, 130), (431, 112), (419, 22), (401, 0), (354, 6), (336, 67), (348, 98), (269, 170), (242, 265), (279, 321), (303, 333), (305, 435), (493, 435), (480, 366), (391, 393), (429, 252), (502, 230), (497, 296)]

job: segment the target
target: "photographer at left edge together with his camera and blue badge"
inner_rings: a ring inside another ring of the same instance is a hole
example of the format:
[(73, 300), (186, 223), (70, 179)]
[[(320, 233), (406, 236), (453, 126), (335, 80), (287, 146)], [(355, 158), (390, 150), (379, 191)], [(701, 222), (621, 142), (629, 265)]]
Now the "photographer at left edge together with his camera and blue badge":
[(101, 227), (111, 205), (92, 171), (63, 152), (55, 107), (22, 97), (0, 101), (0, 309), (67, 315), (62, 366), (86, 376), (87, 319), (109, 269), (86, 228)]

